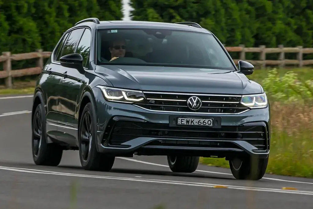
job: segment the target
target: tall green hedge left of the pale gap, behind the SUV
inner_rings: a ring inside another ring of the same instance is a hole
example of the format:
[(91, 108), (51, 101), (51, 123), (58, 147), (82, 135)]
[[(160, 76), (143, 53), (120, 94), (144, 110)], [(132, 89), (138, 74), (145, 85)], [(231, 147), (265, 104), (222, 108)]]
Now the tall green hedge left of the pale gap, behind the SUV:
[[(0, 54), (51, 51), (66, 29), (88, 17), (122, 19), (121, 0), (0, 0)], [(12, 62), (12, 68), (31, 67), (34, 62)]]

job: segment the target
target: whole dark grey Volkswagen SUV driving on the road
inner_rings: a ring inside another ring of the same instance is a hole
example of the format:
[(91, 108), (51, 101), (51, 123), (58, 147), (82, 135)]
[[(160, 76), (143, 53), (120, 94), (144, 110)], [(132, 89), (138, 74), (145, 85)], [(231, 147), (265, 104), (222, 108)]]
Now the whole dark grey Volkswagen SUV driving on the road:
[(116, 156), (164, 155), (191, 173), (199, 157), (217, 157), (236, 179), (259, 180), (270, 117), (253, 71), (196, 23), (81, 20), (38, 78), (34, 162), (57, 166), (63, 150), (79, 150), (84, 169), (109, 171)]

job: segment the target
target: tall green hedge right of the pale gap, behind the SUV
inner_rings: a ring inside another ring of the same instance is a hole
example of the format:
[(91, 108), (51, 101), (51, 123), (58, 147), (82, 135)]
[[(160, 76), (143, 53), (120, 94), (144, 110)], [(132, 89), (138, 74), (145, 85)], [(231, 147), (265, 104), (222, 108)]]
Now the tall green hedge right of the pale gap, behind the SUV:
[(313, 0), (131, 0), (131, 7), (133, 20), (197, 22), (226, 46), (313, 47)]

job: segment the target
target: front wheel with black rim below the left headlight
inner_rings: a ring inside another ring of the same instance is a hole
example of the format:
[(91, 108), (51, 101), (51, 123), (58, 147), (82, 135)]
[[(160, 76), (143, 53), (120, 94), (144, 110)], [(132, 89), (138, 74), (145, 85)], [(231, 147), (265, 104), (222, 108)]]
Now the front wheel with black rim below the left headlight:
[(90, 102), (84, 107), (81, 114), (78, 141), (80, 163), (85, 170), (111, 170), (115, 157), (99, 153), (96, 149), (96, 117)]

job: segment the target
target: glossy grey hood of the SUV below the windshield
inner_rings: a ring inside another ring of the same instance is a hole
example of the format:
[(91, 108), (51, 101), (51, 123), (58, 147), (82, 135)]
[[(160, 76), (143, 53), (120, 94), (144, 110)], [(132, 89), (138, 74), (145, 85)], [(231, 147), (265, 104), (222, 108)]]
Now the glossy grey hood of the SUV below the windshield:
[(261, 86), (238, 71), (164, 67), (97, 66), (95, 72), (114, 87), (144, 91), (175, 91), (217, 94), (261, 93)]

